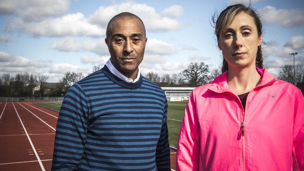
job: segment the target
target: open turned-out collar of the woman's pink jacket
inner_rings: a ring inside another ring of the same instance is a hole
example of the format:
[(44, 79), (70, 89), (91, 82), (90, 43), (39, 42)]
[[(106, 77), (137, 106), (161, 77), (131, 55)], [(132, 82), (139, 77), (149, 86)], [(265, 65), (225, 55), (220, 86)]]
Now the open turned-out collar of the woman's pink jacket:
[[(262, 80), (257, 87), (262, 87), (262, 86), (268, 85), (269, 83), (273, 83), (274, 81), (277, 80), (275, 77), (273, 77), (273, 75), (271, 75), (267, 71), (267, 69), (265, 69), (265, 68), (259, 69), (258, 67), (255, 67), (255, 68), (256, 68), (257, 72), (262, 76)], [(227, 75), (228, 75), (228, 71), (217, 76), (214, 79), (213, 83), (211, 82), (212, 84), (208, 89), (212, 90), (214, 92), (217, 92), (217, 93), (224, 93), (224, 92), (233, 93), (232, 89), (230, 88), (230, 86), (227, 83)], [(257, 88), (257, 87), (255, 87), (255, 88)]]

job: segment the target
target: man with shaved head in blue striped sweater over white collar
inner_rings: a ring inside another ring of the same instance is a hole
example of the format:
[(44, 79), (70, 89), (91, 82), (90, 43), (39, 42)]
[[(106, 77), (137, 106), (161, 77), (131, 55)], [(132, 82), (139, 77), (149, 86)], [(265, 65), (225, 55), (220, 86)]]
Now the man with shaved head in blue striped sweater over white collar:
[(52, 170), (170, 170), (167, 99), (138, 68), (146, 41), (134, 14), (110, 20), (111, 58), (64, 97)]

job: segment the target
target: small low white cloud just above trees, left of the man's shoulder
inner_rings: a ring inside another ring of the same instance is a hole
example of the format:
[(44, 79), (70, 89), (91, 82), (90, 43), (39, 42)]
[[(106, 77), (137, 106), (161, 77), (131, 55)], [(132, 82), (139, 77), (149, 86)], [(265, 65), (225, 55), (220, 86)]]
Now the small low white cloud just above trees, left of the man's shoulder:
[(66, 71), (74, 71), (77, 73), (87, 73), (89, 69), (71, 64), (54, 64), (50, 67), (49, 73), (64, 74)]

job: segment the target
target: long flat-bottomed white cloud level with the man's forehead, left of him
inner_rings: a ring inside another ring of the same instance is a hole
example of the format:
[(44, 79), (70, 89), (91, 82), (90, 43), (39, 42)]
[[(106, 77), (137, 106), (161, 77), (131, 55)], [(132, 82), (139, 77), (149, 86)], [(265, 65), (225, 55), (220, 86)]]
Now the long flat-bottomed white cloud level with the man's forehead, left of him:
[(93, 25), (82, 13), (68, 14), (61, 18), (49, 18), (42, 22), (26, 22), (12, 18), (6, 30), (24, 31), (32, 36), (104, 36), (105, 29)]

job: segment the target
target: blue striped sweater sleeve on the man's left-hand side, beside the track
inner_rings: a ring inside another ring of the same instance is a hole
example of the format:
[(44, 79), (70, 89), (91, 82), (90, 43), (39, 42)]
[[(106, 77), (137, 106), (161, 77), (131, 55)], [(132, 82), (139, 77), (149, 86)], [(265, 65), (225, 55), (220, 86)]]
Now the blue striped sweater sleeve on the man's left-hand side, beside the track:
[(88, 127), (88, 106), (83, 89), (75, 83), (64, 96), (56, 126), (52, 170), (77, 170)]

